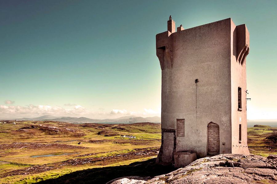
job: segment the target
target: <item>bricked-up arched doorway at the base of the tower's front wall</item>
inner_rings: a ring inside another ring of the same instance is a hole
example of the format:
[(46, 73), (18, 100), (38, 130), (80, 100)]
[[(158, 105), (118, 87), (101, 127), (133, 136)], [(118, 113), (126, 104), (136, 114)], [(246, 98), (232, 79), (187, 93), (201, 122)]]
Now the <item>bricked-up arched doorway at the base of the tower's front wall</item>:
[(219, 155), (219, 125), (210, 122), (207, 126), (208, 155)]

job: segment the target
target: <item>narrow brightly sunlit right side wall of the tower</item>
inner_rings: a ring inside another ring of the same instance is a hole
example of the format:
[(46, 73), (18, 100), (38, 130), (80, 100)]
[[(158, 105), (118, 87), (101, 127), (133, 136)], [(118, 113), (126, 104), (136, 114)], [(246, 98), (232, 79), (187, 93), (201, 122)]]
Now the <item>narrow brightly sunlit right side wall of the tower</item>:
[[(246, 60), (239, 53), (249, 52), (249, 32), (246, 26), (236, 26), (231, 21), (231, 99), (232, 99), (232, 153), (247, 154), (247, 115), (246, 115)], [(243, 50), (244, 49), (244, 50)], [(248, 53), (247, 53), (248, 54)], [(238, 87), (241, 88), (242, 108), (238, 109)], [(241, 142), (239, 142), (241, 124)]]

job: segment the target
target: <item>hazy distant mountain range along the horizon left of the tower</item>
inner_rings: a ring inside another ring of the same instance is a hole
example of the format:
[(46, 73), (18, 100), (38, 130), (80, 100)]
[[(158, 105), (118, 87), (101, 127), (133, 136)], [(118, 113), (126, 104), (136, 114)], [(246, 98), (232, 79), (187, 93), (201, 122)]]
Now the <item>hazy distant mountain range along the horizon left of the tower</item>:
[(19, 118), (18, 120), (31, 120), (31, 121), (63, 121), (63, 122), (79, 122), (79, 123), (84, 123), (84, 122), (161, 122), (161, 117), (159, 116), (154, 116), (154, 117), (137, 117), (137, 116), (123, 116), (120, 118), (116, 119), (90, 119), (86, 117), (56, 117), (52, 115), (43, 115), (39, 116), (36, 118)]

